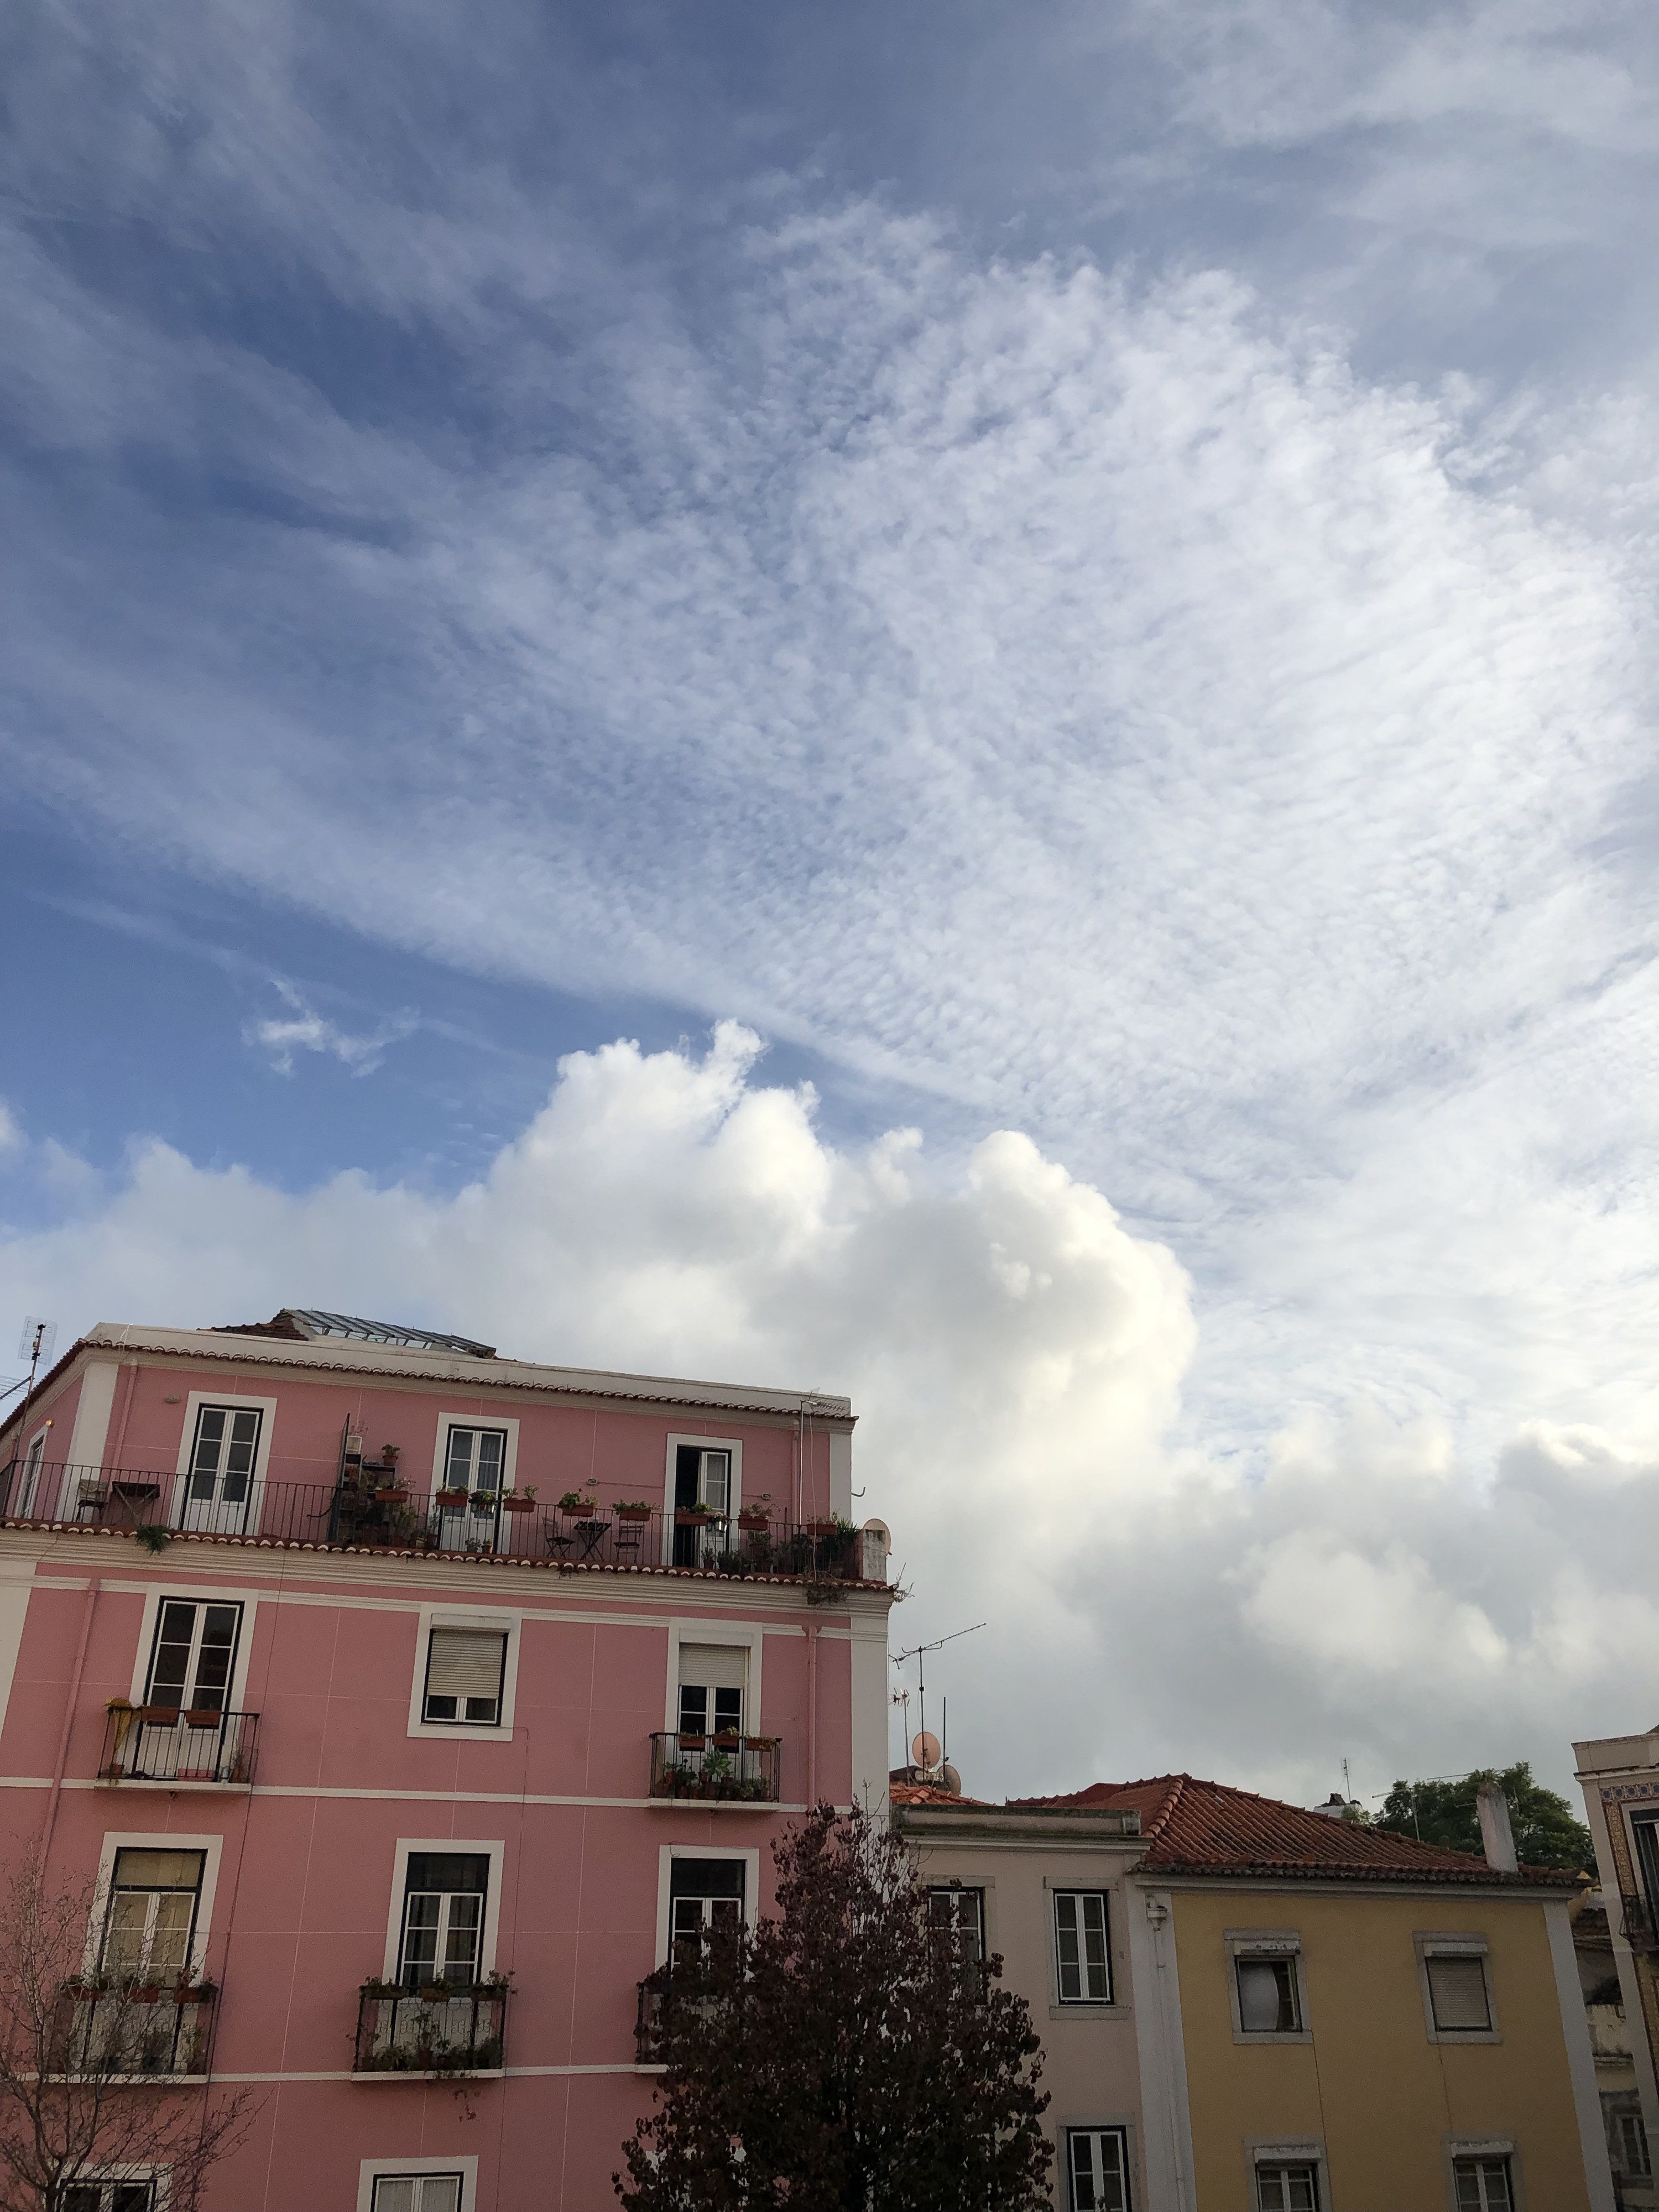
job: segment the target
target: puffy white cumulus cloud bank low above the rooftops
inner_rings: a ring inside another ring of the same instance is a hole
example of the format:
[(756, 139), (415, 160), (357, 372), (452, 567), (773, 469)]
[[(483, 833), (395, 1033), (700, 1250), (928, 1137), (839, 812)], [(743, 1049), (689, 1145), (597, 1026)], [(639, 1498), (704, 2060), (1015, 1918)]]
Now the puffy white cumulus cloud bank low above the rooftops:
[(46, 1307), (210, 1323), (303, 1301), (531, 1358), (849, 1389), (898, 1628), (958, 1646), (982, 1790), (1192, 1765), (1380, 1787), (1652, 1719), (1657, 1469), (1533, 1425), (1484, 1475), (1436, 1422), (1307, 1416), (1263, 1478), (1170, 1444), (1197, 1329), (1170, 1252), (1015, 1133), (936, 1177), (914, 1130), (830, 1146), (757, 1037), (571, 1055), (453, 1197), (363, 1175), (285, 1194), (150, 1144), (4, 1261)]

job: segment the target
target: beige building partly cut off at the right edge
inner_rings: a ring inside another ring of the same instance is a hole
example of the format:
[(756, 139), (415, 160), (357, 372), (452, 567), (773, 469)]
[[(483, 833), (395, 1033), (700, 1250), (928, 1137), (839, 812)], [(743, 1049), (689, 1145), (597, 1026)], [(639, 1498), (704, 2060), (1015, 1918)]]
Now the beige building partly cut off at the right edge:
[(1619, 2203), (1650, 2212), (1659, 2205), (1659, 1728), (1573, 1752), (1601, 1878), (1608, 1971), (1590, 2028), (1608, 2150)]

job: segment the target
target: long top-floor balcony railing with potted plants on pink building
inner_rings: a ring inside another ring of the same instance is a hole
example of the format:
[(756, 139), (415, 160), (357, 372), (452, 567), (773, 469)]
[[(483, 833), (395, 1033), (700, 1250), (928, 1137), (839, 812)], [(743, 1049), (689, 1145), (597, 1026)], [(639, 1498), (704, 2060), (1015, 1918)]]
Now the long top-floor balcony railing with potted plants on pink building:
[(254, 1482), (49, 1460), (0, 1469), (0, 1520), (117, 1528), (164, 1548), (175, 1533), (316, 1551), (460, 1553), (557, 1568), (657, 1568), (765, 1575), (810, 1586), (887, 1582), (887, 1540), (847, 1522), (792, 1522), (770, 1511), (573, 1511), (493, 1491), (416, 1491), (396, 1469), (352, 1469), (341, 1482)]

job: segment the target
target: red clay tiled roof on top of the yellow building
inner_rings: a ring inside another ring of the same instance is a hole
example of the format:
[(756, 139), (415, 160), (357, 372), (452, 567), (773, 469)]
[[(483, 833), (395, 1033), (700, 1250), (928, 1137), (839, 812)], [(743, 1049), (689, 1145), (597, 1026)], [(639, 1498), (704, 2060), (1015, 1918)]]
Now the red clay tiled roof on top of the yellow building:
[(1011, 1805), (1139, 1812), (1148, 1874), (1305, 1876), (1356, 1882), (1511, 1882), (1573, 1889), (1577, 1874), (1522, 1867), (1500, 1874), (1484, 1858), (1442, 1851), (1411, 1836), (1327, 1820), (1301, 1805), (1206, 1783), (1192, 1774), (1159, 1774), (1139, 1783), (1091, 1783), (1068, 1796), (1011, 1798)]

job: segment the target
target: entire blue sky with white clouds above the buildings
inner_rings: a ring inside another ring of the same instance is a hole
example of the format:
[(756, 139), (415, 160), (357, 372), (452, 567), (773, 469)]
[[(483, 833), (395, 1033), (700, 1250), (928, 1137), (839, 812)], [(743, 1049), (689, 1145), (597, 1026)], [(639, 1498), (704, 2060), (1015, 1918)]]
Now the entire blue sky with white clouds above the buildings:
[(11, 42), (18, 1314), (854, 1389), (987, 1787), (1648, 1725), (1650, 13)]

